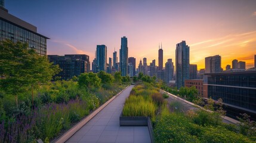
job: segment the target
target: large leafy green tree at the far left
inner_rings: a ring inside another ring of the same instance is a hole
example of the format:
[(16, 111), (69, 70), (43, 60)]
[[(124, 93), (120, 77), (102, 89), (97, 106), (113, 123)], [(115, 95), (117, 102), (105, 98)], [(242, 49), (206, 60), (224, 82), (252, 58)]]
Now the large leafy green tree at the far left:
[(1, 86), (8, 94), (16, 96), (18, 107), (18, 94), (39, 83), (47, 82), (58, 72), (58, 66), (49, 63), (47, 57), (36, 54), (27, 43), (0, 42), (0, 74)]

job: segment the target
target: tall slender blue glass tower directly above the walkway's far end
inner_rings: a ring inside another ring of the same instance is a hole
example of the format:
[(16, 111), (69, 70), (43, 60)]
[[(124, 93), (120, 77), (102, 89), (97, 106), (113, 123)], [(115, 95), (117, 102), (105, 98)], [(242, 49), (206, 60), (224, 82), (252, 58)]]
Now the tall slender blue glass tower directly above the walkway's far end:
[(127, 76), (128, 74), (128, 42), (127, 38), (124, 36), (121, 38), (121, 49), (120, 49), (120, 69), (122, 76)]

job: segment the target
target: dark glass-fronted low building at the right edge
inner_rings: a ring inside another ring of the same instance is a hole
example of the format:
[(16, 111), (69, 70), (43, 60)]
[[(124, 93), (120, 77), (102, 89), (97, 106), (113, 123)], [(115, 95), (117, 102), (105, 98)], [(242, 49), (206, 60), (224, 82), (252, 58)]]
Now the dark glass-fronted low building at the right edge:
[[(256, 71), (206, 73), (208, 98), (256, 114)], [(239, 113), (238, 113), (239, 114)]]

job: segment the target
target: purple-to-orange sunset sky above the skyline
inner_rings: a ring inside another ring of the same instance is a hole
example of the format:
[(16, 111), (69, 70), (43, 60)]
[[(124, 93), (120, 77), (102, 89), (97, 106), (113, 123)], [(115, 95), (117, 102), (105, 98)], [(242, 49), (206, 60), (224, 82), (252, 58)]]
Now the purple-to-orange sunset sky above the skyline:
[[(164, 63), (175, 62), (176, 43), (190, 46), (190, 64), (205, 67), (205, 57), (221, 55), (221, 67), (233, 59), (254, 67), (256, 54), (255, 0), (5, 0), (10, 14), (38, 27), (50, 38), (48, 54), (87, 54), (107, 46), (107, 56), (128, 38), (129, 57), (158, 63), (162, 42)], [(107, 59), (108, 59), (107, 57)], [(137, 66), (136, 66), (137, 67)]]

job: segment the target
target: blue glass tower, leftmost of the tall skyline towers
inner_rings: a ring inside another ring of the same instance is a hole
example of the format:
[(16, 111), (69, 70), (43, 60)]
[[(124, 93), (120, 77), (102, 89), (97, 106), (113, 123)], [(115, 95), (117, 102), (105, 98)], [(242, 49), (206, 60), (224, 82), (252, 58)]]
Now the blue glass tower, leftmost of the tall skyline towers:
[(107, 71), (107, 46), (97, 45), (97, 70)]

